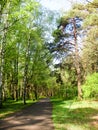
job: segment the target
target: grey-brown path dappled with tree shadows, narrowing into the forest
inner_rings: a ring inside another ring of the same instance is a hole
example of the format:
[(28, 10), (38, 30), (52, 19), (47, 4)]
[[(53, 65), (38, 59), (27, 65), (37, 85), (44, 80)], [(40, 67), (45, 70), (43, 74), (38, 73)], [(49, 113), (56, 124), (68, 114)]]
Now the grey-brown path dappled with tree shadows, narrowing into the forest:
[(0, 120), (0, 130), (54, 130), (52, 104), (49, 99), (39, 102)]

